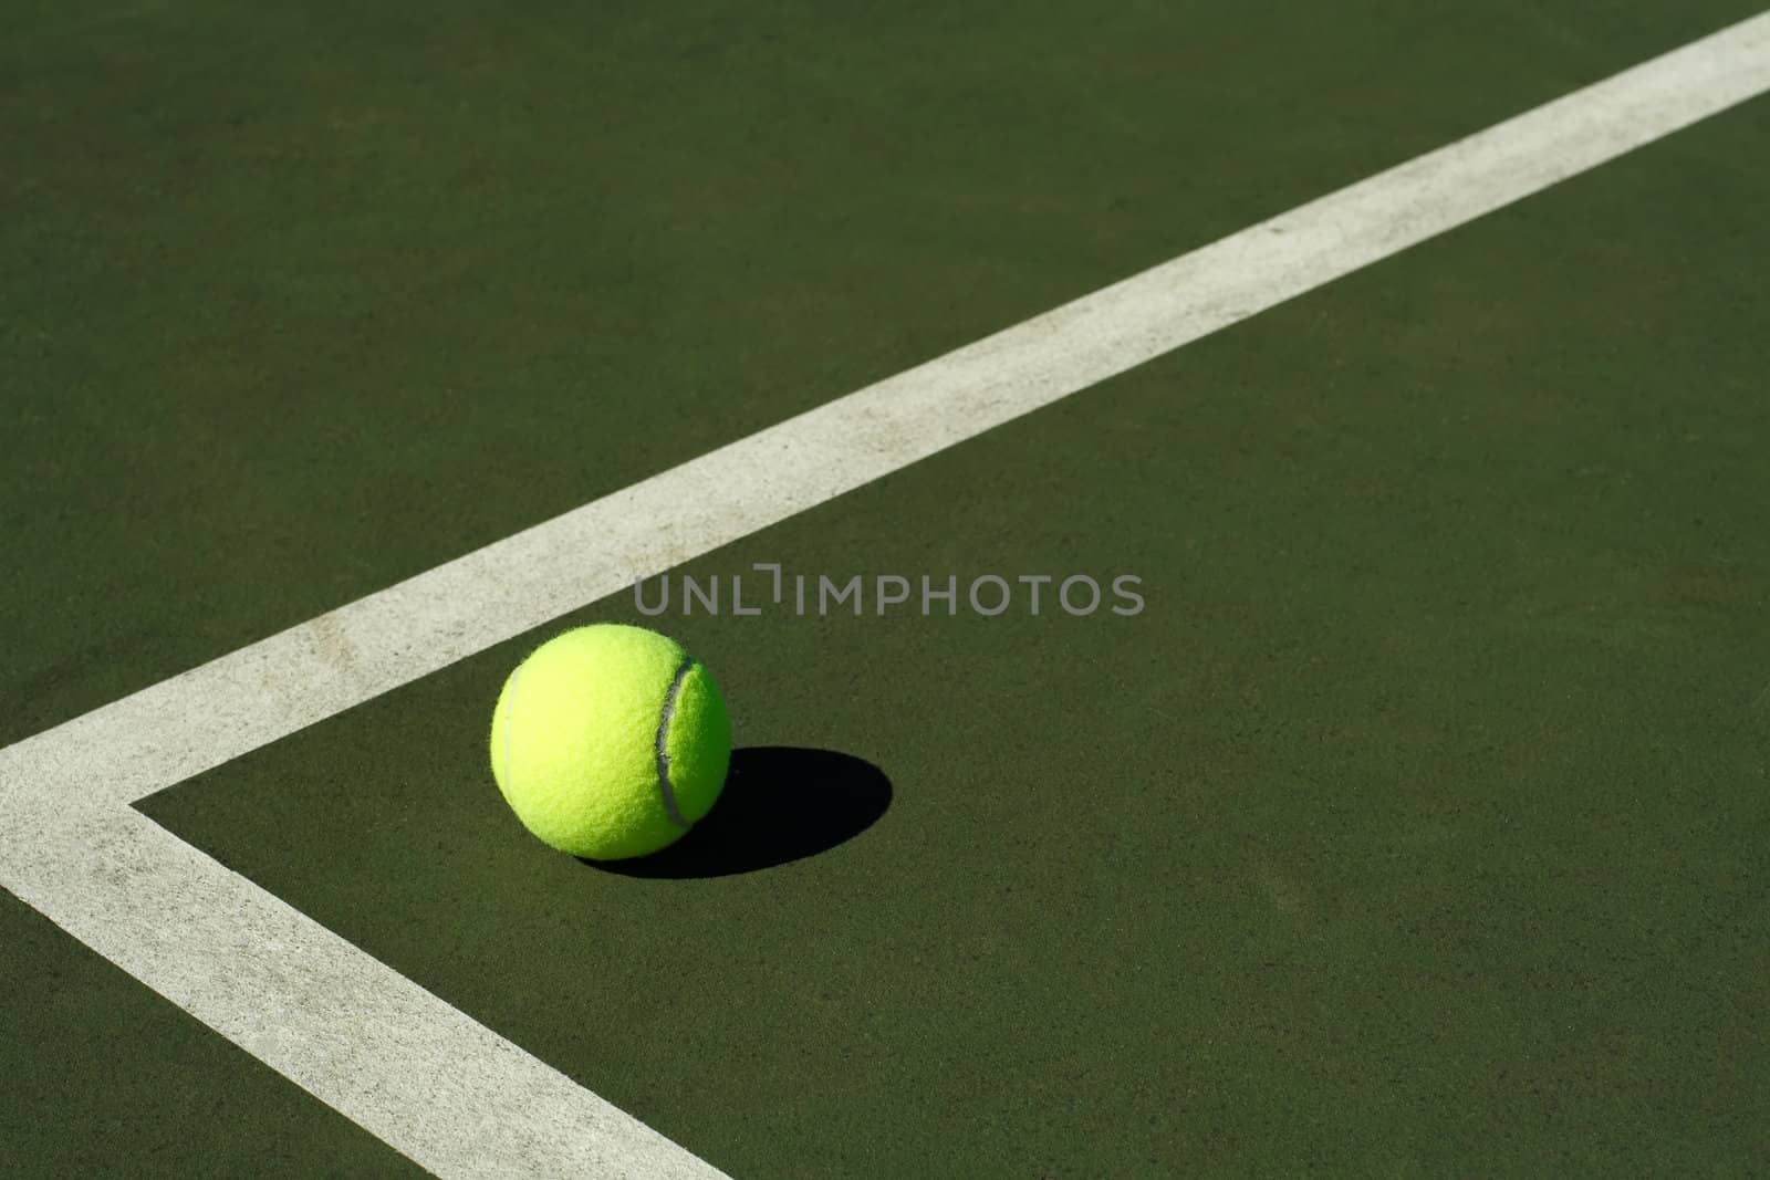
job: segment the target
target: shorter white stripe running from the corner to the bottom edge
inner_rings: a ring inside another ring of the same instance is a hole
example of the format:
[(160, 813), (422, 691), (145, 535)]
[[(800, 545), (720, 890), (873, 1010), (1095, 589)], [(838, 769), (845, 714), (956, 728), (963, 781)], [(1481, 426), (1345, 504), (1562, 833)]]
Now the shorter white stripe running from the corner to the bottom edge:
[(439, 1176), (724, 1175), (135, 808), (11, 819), (25, 902)]

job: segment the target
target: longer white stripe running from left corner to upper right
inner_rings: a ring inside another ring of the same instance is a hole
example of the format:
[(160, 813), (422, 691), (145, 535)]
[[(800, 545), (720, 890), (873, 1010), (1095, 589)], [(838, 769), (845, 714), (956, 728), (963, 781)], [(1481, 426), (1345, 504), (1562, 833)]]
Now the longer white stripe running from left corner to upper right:
[(94, 709), (0, 775), (138, 800), (1765, 90), (1770, 12)]

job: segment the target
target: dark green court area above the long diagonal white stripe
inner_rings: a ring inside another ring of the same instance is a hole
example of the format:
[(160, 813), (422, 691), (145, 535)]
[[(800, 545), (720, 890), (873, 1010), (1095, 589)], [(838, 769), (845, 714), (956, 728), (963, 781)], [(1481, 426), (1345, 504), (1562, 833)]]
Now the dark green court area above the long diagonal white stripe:
[(0, 7), (0, 741), (1738, 19)]

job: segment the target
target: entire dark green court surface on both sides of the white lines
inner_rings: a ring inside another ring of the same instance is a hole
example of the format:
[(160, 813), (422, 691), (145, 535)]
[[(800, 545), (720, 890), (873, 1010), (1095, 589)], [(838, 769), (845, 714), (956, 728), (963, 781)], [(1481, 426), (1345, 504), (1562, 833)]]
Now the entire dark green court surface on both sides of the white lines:
[[(0, 741), (1752, 7), (7, 5)], [(1763, 1171), (1766, 120), (696, 563), (1145, 579), (673, 621), (821, 854), (529, 842), (540, 635), (145, 808), (742, 1176)], [(28, 1166), (404, 1168), (7, 906)]]

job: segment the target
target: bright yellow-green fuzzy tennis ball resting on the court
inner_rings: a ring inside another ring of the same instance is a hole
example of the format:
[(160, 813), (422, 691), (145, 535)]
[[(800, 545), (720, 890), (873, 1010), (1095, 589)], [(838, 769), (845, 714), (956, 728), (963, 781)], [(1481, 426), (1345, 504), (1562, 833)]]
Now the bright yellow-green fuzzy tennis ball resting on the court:
[(646, 856), (712, 810), (731, 761), (719, 686), (681, 646), (602, 623), (549, 639), (492, 711), (492, 777), (522, 824), (588, 860)]

